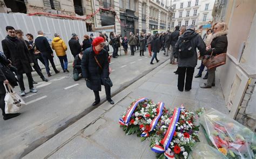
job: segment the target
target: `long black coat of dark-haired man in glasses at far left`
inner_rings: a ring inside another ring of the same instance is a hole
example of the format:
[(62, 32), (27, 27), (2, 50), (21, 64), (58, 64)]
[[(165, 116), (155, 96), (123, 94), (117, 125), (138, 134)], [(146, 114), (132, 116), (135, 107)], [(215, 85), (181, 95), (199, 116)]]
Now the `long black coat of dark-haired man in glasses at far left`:
[(2, 46), (6, 58), (11, 60), (12, 65), (18, 69), (18, 73), (32, 72), (30, 63), (33, 63), (33, 61), (30, 57), (28, 47), (26, 47), (26, 44), (22, 40), (17, 37), (11, 38), (6, 36), (2, 40)]

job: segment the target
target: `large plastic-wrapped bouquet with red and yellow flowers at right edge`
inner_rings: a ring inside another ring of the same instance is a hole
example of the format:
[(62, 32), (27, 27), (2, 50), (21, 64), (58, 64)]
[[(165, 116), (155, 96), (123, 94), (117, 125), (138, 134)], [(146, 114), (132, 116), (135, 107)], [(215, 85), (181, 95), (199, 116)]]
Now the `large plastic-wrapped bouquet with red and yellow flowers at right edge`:
[(199, 118), (208, 142), (227, 158), (254, 158), (255, 134), (215, 109)]

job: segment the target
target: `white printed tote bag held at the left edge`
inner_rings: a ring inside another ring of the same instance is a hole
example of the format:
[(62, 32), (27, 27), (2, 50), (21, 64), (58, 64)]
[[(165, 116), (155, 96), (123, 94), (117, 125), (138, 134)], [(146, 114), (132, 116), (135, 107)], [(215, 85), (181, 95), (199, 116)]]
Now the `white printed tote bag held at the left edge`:
[[(6, 88), (6, 85), (4, 84), (5, 87), (5, 114), (12, 114), (12, 113), (18, 113), (19, 110), (22, 109), (23, 106), (26, 105), (24, 100), (14, 91), (12, 86), (8, 84), (8, 89)], [(10, 92), (11, 90), (11, 92)]]

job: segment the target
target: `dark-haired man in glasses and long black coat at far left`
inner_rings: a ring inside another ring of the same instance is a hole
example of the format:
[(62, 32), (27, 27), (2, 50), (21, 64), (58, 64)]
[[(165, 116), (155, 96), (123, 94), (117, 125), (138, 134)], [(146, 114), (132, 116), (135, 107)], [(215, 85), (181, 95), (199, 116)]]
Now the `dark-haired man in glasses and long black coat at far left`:
[(17, 77), (19, 81), (19, 88), (21, 88), (21, 95), (25, 95), (25, 86), (23, 82), (23, 73), (26, 74), (29, 81), (30, 92), (36, 93), (36, 89), (33, 88), (32, 68), (33, 61), (30, 57), (29, 50), (26, 44), (16, 37), (15, 29), (12, 26), (5, 27), (8, 35), (2, 40), (3, 51), (7, 59), (11, 60), (17, 70)]

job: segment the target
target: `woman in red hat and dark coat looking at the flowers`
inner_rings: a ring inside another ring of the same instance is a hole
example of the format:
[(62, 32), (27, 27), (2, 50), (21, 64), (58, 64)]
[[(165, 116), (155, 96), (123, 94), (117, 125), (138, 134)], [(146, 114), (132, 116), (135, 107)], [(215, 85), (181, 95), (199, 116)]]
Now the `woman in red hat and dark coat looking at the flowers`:
[(92, 41), (92, 47), (83, 52), (81, 61), (82, 74), (86, 81), (86, 86), (93, 90), (95, 94), (95, 102), (93, 106), (100, 102), (99, 91), (105, 86), (106, 100), (112, 105), (114, 101), (111, 99), (110, 87), (112, 82), (109, 78), (109, 61), (108, 53), (104, 48), (106, 45), (103, 37), (97, 37)]

